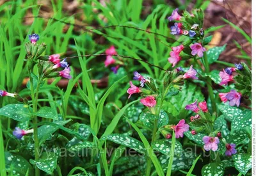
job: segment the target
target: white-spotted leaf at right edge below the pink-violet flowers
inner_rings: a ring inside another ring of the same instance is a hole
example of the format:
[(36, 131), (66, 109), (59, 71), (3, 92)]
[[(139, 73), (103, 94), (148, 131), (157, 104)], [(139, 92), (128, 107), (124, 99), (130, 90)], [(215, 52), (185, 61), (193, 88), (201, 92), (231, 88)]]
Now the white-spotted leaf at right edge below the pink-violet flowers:
[(232, 120), (231, 132), (244, 129), (246, 127), (252, 127), (252, 111), (248, 109), (241, 112), (239, 115), (236, 116), (236, 118)]

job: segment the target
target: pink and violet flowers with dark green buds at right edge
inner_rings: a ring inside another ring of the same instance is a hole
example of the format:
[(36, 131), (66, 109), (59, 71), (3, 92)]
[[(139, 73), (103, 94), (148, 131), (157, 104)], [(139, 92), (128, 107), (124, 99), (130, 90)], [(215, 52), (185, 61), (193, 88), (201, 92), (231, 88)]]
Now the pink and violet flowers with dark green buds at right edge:
[[(236, 76), (233, 76), (236, 72)], [(221, 78), (221, 86), (226, 86), (228, 83), (235, 82), (235, 88), (239, 90), (230, 90), (230, 92), (219, 93), (222, 102), (229, 102), (230, 106), (239, 106), (242, 94), (251, 97), (252, 95), (252, 73), (250, 69), (244, 64), (235, 64), (235, 67), (228, 67), (223, 69), (219, 74)]]

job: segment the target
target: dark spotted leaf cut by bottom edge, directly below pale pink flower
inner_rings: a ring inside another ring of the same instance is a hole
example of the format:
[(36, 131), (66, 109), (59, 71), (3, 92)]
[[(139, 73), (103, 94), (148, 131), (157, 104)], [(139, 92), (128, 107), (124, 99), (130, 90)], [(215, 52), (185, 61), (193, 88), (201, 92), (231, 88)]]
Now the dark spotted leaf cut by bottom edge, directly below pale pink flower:
[(202, 168), (202, 176), (209, 176), (209, 175), (224, 175), (224, 166), (223, 163), (210, 163), (206, 164)]

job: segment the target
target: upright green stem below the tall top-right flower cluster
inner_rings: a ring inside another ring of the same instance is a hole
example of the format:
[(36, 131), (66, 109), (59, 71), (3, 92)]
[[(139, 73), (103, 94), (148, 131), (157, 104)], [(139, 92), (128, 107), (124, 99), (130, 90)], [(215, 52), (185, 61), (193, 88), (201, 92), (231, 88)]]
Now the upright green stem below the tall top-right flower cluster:
[[(210, 67), (209, 67), (209, 63), (208, 63), (208, 59), (207, 59), (207, 54), (206, 52), (204, 52), (204, 67), (205, 67), (205, 71), (207, 72), (207, 74), (210, 73)], [(212, 104), (212, 111), (213, 112), (217, 112), (217, 108), (216, 108), (216, 104), (215, 104), (215, 100), (214, 100), (214, 93), (212, 90), (212, 83), (211, 83), (211, 78), (207, 77), (207, 88), (208, 88), (208, 93), (211, 99), (211, 104)]]

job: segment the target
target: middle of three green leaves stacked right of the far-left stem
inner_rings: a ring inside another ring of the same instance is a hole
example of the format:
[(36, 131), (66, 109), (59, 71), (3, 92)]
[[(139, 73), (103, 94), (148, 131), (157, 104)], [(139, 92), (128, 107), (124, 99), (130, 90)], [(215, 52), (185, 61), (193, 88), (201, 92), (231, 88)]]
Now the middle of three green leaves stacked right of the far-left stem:
[[(58, 121), (54, 122), (54, 124), (58, 125), (65, 125), (69, 122), (69, 120), (66, 121)], [(41, 127), (38, 128), (38, 140), (39, 144), (41, 145), (46, 141), (48, 138), (51, 138), (52, 133), (57, 131), (59, 128), (51, 125), (42, 125)]]

